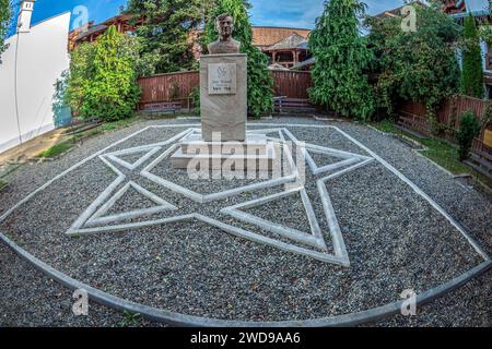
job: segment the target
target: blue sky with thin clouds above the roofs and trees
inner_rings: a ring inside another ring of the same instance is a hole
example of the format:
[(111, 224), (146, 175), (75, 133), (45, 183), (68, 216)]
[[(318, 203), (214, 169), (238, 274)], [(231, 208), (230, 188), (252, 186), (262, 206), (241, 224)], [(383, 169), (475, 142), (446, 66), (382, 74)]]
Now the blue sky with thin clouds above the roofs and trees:
[[(470, 8), (482, 9), (487, 0), (468, 0)], [(289, 26), (313, 28), (315, 20), (321, 14), (325, 0), (250, 0), (251, 23), (254, 25)], [(365, 0), (368, 14), (377, 14), (402, 4), (402, 0)], [(37, 0), (34, 4), (32, 24), (62, 12), (72, 12), (72, 25), (80, 25), (80, 16), (73, 13), (83, 5), (87, 9), (89, 21), (99, 23), (119, 13), (127, 0)]]

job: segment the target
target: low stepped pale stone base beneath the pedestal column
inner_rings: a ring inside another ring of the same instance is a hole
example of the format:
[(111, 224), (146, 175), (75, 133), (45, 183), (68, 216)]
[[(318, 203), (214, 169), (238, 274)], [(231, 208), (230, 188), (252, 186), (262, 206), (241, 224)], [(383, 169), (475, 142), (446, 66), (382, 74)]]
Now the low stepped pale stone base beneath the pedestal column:
[(270, 171), (280, 158), (280, 144), (265, 135), (247, 135), (245, 142), (206, 142), (192, 135), (179, 144), (171, 164), (175, 169)]

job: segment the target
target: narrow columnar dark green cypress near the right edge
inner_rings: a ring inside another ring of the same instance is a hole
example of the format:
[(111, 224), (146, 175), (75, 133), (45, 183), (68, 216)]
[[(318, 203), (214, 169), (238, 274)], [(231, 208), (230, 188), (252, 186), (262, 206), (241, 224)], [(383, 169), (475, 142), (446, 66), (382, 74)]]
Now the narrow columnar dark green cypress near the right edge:
[(483, 70), (479, 33), (471, 14), (465, 19), (464, 36), (461, 92), (468, 96), (483, 98)]

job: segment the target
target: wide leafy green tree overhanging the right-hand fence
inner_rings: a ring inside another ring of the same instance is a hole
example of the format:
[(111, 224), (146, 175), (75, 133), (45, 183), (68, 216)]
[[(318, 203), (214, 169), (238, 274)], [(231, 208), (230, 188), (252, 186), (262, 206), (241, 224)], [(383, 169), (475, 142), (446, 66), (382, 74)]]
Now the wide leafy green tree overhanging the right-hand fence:
[(376, 106), (391, 115), (400, 100), (423, 103), (427, 117), (459, 91), (456, 41), (461, 28), (438, 10), (437, 3), (417, 7), (417, 32), (401, 31), (401, 19), (370, 19), (368, 47)]

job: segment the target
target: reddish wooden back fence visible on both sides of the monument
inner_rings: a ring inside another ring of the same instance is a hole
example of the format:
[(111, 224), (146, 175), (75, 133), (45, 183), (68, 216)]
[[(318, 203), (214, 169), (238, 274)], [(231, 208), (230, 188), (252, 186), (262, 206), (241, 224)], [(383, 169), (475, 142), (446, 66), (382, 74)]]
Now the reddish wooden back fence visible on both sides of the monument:
[[(296, 71), (272, 71), (274, 84), (274, 95), (288, 98), (307, 99), (307, 88), (312, 86), (309, 72)], [(195, 87), (200, 84), (198, 71), (159, 74), (139, 79), (139, 86), (142, 89), (139, 109), (145, 106), (180, 101), (183, 108), (190, 108), (189, 98)]]

